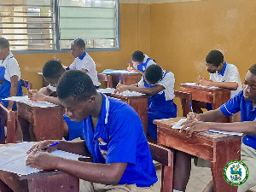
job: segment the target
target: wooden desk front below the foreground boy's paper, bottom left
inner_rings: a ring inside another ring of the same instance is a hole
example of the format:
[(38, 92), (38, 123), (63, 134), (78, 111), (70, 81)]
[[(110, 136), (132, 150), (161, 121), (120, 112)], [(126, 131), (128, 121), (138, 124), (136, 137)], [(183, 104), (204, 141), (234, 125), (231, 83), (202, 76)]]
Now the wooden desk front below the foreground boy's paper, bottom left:
[(0, 171), (0, 191), (10, 189), (14, 192), (79, 192), (79, 178), (61, 171), (43, 171), (26, 176)]

